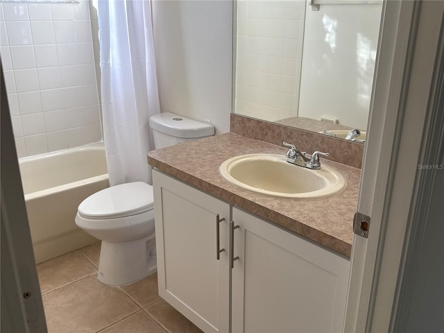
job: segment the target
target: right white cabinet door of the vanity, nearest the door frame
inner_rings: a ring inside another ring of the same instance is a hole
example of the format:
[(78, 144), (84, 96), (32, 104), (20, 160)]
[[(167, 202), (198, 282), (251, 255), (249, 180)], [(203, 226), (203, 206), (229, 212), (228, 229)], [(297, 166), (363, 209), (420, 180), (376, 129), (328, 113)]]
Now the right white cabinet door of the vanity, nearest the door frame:
[(232, 332), (342, 332), (348, 258), (233, 208)]

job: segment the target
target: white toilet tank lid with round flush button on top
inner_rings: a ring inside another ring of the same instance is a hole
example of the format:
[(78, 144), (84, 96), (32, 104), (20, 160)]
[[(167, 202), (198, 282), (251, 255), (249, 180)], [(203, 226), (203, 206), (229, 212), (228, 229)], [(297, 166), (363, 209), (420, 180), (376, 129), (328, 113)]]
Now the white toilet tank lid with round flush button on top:
[(173, 137), (193, 138), (214, 135), (214, 126), (170, 112), (151, 116), (150, 127)]

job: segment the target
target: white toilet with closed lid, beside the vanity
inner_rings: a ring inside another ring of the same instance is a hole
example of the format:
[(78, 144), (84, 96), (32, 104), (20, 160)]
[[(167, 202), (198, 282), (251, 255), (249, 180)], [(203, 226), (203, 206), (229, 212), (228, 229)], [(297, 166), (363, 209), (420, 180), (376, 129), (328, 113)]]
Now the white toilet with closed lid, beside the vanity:
[[(164, 112), (150, 118), (156, 149), (214, 135), (214, 126)], [(157, 271), (153, 187), (129, 182), (103, 189), (78, 206), (76, 225), (100, 239), (99, 281), (131, 284)]]

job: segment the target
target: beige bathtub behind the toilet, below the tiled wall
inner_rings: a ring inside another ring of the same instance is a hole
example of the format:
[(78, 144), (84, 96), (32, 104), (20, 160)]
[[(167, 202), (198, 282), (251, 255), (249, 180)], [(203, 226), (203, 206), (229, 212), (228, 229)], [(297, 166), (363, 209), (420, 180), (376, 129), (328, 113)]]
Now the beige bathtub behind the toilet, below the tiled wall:
[(20, 158), (19, 167), (37, 264), (98, 241), (74, 218), (83, 199), (109, 187), (103, 143)]

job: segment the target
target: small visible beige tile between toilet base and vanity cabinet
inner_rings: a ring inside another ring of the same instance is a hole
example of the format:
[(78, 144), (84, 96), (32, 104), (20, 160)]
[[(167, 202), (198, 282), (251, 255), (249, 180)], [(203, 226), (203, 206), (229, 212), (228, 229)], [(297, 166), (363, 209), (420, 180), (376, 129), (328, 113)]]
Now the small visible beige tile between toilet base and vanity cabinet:
[(128, 286), (121, 287), (141, 307), (148, 307), (160, 300), (157, 290), (157, 272)]

